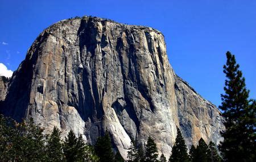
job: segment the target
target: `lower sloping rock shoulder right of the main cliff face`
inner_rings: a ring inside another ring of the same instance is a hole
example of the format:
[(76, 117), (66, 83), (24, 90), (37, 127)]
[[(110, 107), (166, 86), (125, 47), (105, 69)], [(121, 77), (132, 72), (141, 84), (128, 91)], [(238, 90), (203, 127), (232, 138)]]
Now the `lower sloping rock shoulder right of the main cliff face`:
[(179, 123), (188, 147), (191, 144), (196, 146), (200, 138), (219, 143), (222, 140), (220, 132), (224, 131), (224, 119), (217, 107), (196, 93), (179, 76), (175, 76), (175, 94)]

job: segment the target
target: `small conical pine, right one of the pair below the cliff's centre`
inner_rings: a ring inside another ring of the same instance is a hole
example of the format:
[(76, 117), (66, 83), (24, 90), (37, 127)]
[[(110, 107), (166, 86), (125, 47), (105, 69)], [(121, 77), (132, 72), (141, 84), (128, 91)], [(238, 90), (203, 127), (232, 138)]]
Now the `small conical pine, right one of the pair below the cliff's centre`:
[(157, 152), (158, 149), (156, 148), (154, 139), (152, 139), (151, 136), (149, 136), (146, 144), (145, 161), (157, 161)]

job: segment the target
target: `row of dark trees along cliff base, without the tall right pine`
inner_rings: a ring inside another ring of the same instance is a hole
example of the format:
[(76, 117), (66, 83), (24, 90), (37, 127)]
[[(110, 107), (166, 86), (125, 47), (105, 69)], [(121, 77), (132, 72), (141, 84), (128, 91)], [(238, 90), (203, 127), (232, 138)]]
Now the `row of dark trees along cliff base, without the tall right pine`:
[[(0, 159), (2, 161), (124, 161), (120, 153), (114, 152), (109, 131), (100, 136), (94, 146), (85, 143), (82, 135), (76, 136), (69, 131), (61, 139), (61, 131), (54, 127), (51, 134), (44, 134), (44, 128), (30, 121), (21, 123), (0, 115)], [(216, 145), (209, 146), (203, 139), (189, 153), (179, 128), (176, 142), (172, 147), (170, 161), (220, 161)], [(149, 136), (143, 148), (131, 140), (127, 161), (167, 161), (158, 149), (154, 139)]]

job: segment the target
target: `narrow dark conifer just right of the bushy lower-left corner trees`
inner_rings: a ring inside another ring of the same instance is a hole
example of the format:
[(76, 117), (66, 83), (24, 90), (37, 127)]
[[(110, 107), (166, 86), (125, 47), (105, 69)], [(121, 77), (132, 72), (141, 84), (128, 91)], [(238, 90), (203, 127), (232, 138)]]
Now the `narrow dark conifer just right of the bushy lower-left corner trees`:
[(57, 127), (54, 127), (47, 140), (46, 152), (49, 161), (61, 161), (63, 159), (60, 134), (60, 130)]

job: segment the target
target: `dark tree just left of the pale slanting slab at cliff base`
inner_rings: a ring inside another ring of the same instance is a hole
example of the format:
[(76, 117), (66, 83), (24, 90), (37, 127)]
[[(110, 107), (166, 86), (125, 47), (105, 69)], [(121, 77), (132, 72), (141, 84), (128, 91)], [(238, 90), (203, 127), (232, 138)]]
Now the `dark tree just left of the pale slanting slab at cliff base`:
[(100, 161), (114, 161), (114, 153), (108, 130), (105, 131), (104, 136), (100, 136), (97, 139), (94, 149)]

